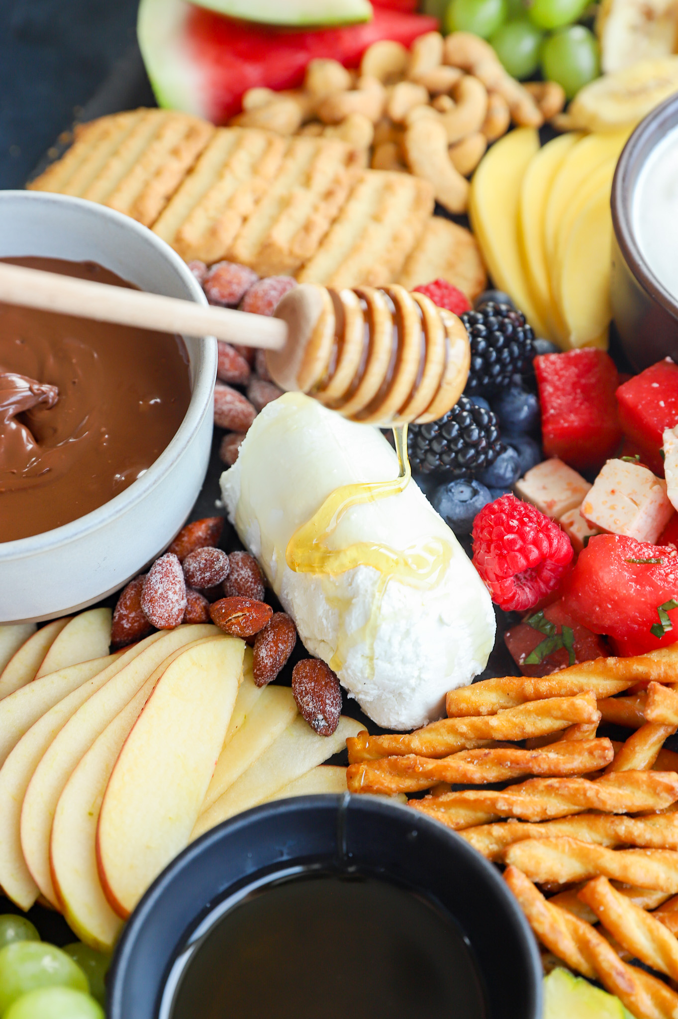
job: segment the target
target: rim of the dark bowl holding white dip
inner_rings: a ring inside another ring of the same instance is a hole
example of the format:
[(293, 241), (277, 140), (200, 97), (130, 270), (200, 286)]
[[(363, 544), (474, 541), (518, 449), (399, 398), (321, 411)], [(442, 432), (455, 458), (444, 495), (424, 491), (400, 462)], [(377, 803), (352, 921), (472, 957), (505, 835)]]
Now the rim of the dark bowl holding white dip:
[(672, 297), (657, 278), (640, 252), (633, 228), (633, 199), (638, 175), (649, 154), (674, 127), (678, 127), (678, 94), (665, 99), (630, 135), (615, 168), (610, 207), (614, 235), (629, 271), (651, 298), (678, 319), (678, 296)]

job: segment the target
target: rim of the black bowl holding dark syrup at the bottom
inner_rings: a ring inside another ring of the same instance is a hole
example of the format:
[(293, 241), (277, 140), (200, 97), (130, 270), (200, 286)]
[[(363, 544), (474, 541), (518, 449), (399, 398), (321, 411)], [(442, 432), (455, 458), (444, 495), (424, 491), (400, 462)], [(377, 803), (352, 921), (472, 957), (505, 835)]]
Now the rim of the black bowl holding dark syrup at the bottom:
[[(368, 814), (390, 816), (397, 822), (402, 822), (406, 817), (406, 823), (409, 827), (419, 832), (429, 832), (431, 837), (437, 842), (447, 844), (451, 855), (456, 854), (457, 857), (465, 857), (470, 869), (483, 874), (487, 886), (492, 890), (494, 896), (502, 901), (510, 917), (510, 922), (514, 927), (515, 940), (519, 943), (524, 958), (525, 969), (528, 974), (527, 998), (531, 1006), (531, 1012), (525, 1019), (536, 1019), (536, 1017), (541, 1016), (544, 1003), (544, 981), (542, 979), (542, 958), (536, 938), (518, 901), (503, 880), (497, 867), (473, 849), (456, 832), (451, 830), (435, 818), (427, 816), (421, 811), (412, 810), (404, 804), (394, 802), (385, 796), (357, 796), (349, 792), (289, 797), (262, 803), (259, 806), (251, 807), (222, 821), (221, 824), (206, 832), (205, 835), (190, 843), (179, 853), (151, 884), (125, 923), (111, 963), (107, 993), (107, 1015), (110, 1010), (113, 1019), (122, 1019), (123, 1000), (121, 984), (125, 979), (129, 964), (134, 957), (137, 937), (142, 934), (154, 908), (156, 908), (159, 901), (166, 899), (168, 896), (172, 897), (172, 889), (177, 884), (184, 883), (184, 879), (187, 878), (190, 870), (200, 867), (202, 858), (206, 854), (210, 855), (213, 853), (214, 848), (218, 848), (220, 844), (225, 846), (233, 834), (237, 835), (237, 833), (243, 829), (246, 832), (247, 828), (256, 828), (260, 822), (275, 820), (284, 814), (308, 813), (313, 811), (322, 812), (327, 810), (336, 811), (335, 838), (337, 847), (341, 845), (341, 852), (345, 853), (346, 821), (343, 815), (349, 809)], [(290, 861), (282, 854), (279, 864), (281, 871), (288, 870)], [(266, 870), (269, 872), (268, 867)], [(258, 879), (258, 873), (261, 874), (261, 871), (257, 869), (249, 869), (247, 861), (244, 859), (240, 871), (240, 877), (232, 881), (231, 887), (240, 888), (242, 882), (255, 881)], [(274, 877), (274, 875), (275, 871), (271, 871), (267, 880)], [(228, 894), (222, 896), (220, 893), (220, 901), (222, 898), (228, 898)], [(214, 908), (216, 900), (213, 900), (209, 905)], [(194, 917), (199, 920), (197, 926), (200, 926), (201, 921), (199, 918), (203, 906), (203, 903), (196, 904)], [(171, 935), (176, 937), (175, 948), (178, 947), (181, 938), (186, 933), (186, 929), (172, 929)], [(169, 971), (166, 971), (165, 981), (168, 975)], [(162, 990), (163, 987), (161, 986), (160, 995), (156, 1001), (156, 1009), (160, 1005)]]

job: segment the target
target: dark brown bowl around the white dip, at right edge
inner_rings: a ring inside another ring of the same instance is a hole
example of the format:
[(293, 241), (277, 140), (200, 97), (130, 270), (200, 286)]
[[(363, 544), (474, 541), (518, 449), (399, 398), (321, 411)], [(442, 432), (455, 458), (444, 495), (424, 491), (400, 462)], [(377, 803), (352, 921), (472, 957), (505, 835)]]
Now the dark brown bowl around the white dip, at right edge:
[(667, 356), (678, 361), (678, 300), (660, 283), (642, 257), (632, 215), (635, 185), (645, 160), (677, 124), (675, 95), (635, 128), (617, 163), (612, 183), (612, 317), (636, 371)]

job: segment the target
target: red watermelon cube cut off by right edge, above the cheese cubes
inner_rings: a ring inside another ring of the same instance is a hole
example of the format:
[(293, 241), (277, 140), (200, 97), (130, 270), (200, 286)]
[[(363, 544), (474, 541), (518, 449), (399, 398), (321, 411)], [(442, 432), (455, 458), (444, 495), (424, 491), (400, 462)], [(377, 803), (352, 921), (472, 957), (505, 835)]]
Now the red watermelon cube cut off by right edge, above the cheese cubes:
[(678, 424), (678, 365), (665, 358), (645, 368), (619, 386), (617, 401), (624, 435), (651, 471), (663, 476), (662, 435)]

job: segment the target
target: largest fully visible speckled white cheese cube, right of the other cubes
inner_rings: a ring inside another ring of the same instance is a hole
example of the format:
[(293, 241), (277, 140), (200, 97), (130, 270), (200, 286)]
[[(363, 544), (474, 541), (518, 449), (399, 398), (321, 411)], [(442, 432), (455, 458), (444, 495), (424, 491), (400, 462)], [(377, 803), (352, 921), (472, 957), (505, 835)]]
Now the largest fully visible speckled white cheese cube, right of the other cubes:
[(655, 544), (673, 516), (666, 482), (639, 464), (609, 460), (581, 503), (592, 527)]

